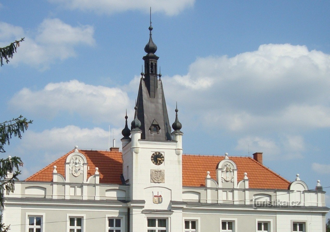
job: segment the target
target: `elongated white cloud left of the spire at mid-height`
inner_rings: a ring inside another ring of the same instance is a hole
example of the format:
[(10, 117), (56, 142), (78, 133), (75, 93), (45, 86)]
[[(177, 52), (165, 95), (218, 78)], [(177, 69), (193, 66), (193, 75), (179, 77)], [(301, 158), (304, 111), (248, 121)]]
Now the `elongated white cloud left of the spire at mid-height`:
[[(93, 122), (122, 123), (125, 109), (132, 108), (127, 93), (119, 88), (87, 85), (77, 80), (49, 83), (42, 90), (24, 88), (9, 101), (12, 109), (52, 118), (65, 111)], [(130, 113), (130, 112), (129, 112)]]

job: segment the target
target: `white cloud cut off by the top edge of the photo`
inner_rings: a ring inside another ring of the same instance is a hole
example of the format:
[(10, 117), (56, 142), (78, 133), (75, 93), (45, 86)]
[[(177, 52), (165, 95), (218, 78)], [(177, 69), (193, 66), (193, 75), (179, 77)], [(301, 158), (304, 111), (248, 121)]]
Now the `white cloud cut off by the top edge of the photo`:
[(192, 7), (195, 0), (49, 0), (71, 10), (92, 11), (95, 13), (111, 14), (132, 10), (164, 12), (167, 15), (177, 15), (185, 8)]

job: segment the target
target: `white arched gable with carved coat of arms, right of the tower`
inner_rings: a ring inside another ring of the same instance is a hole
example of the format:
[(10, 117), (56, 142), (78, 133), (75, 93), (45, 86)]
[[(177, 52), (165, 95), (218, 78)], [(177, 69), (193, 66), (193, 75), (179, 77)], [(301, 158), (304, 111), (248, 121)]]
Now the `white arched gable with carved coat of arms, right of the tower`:
[(225, 153), (225, 159), (219, 162), (216, 173), (219, 188), (237, 188), (237, 166), (229, 159), (228, 153)]

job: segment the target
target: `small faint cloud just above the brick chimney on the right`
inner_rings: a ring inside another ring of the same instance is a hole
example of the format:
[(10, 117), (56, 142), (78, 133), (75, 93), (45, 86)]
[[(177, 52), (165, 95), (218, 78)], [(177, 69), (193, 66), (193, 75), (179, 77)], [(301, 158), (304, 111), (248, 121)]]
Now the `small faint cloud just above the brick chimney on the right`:
[(305, 142), (301, 136), (284, 135), (279, 139), (263, 138), (260, 136), (247, 136), (237, 141), (236, 150), (248, 153), (263, 152), (264, 159), (296, 159), (302, 157), (305, 151)]

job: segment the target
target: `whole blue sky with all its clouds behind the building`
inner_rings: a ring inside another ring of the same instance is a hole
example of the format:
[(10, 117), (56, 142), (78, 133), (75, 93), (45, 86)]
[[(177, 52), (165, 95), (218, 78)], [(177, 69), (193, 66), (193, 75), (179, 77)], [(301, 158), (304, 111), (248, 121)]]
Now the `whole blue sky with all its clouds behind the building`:
[(1, 1), (0, 47), (25, 38), (0, 67), (0, 121), (33, 120), (2, 154), (21, 157), (20, 179), (75, 145), (109, 149), (109, 126), (121, 149), (150, 7), (183, 153), (263, 152), (289, 181), (299, 173), (309, 189), (330, 187), (329, 1)]

